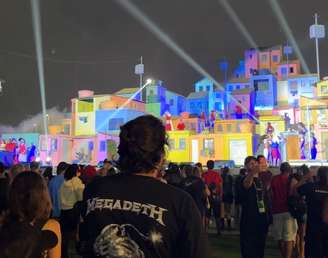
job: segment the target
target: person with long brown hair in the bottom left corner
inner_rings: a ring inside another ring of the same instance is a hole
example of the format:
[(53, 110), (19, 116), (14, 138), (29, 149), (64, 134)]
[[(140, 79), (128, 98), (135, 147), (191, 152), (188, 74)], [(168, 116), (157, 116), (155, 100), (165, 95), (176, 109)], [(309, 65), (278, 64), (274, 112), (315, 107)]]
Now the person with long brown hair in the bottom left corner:
[[(28, 197), (28, 198), (26, 198)], [(59, 223), (49, 219), (51, 201), (44, 179), (32, 171), (11, 183), (9, 209), (0, 227), (0, 257), (60, 257)]]

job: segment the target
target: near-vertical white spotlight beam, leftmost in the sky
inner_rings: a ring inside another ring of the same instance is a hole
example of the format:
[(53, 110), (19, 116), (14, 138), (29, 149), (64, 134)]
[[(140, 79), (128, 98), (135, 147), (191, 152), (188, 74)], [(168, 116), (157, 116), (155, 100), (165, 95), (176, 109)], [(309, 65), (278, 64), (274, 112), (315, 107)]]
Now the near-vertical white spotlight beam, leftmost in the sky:
[[(44, 79), (44, 68), (43, 68), (42, 34), (41, 34), (41, 17), (40, 17), (39, 0), (31, 0), (31, 11), (32, 11), (33, 32), (34, 32), (34, 41), (35, 41), (35, 50), (36, 50), (36, 58), (37, 58), (40, 95), (41, 95), (43, 129), (47, 140), (48, 121), (47, 121), (47, 105), (46, 105), (45, 79)], [(47, 146), (48, 146), (48, 141), (47, 141)]]

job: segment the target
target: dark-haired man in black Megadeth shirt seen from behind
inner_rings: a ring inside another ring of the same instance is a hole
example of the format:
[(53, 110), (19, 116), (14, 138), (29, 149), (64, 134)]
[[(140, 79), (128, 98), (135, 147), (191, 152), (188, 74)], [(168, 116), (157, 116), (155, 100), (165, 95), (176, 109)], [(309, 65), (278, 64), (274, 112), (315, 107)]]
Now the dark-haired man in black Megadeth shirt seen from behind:
[(121, 127), (121, 174), (103, 177), (84, 192), (83, 257), (206, 258), (200, 213), (189, 194), (157, 179), (167, 136), (153, 116)]

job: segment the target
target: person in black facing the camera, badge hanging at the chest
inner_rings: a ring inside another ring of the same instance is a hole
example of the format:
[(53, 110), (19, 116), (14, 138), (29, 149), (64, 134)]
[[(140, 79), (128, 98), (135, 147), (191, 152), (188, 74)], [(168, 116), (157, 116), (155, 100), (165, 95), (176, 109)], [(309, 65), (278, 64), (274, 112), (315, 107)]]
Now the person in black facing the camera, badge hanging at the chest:
[(245, 159), (247, 176), (241, 185), (242, 213), (240, 221), (240, 247), (242, 258), (263, 258), (269, 227), (267, 190), (259, 178), (259, 165), (255, 157)]

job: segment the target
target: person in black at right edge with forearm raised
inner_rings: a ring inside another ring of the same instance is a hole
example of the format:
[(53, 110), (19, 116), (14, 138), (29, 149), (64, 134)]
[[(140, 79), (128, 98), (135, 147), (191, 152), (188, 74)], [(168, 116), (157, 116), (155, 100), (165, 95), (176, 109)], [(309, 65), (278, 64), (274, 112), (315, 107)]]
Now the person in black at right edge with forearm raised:
[(328, 201), (328, 167), (320, 167), (318, 181), (305, 183), (313, 172), (303, 176), (296, 185), (297, 192), (305, 196), (307, 203), (307, 222), (305, 233), (305, 257), (328, 257), (328, 224), (326, 223), (326, 204)]

